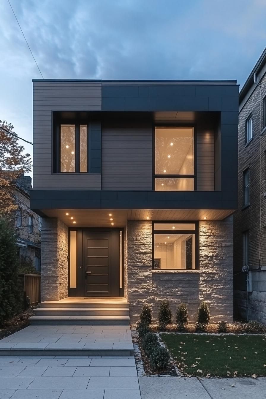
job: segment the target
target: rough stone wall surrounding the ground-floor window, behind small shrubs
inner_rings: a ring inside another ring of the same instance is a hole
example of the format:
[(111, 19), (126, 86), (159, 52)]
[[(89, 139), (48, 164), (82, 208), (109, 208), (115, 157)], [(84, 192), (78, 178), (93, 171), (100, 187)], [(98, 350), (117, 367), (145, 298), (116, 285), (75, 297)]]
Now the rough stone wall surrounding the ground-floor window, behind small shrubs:
[(199, 271), (152, 271), (152, 223), (128, 221), (127, 268), (130, 320), (136, 322), (142, 306), (152, 306), (158, 320), (162, 300), (169, 300), (175, 322), (179, 303), (187, 304), (193, 322), (201, 300), (207, 300), (211, 320), (233, 320), (233, 217), (223, 221), (201, 221), (199, 227)]

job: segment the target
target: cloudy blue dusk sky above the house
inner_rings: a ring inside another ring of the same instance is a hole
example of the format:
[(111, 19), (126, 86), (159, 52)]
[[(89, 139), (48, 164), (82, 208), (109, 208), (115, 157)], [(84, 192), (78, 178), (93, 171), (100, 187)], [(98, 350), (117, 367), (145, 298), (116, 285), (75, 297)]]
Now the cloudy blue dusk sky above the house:
[[(266, 46), (266, 0), (10, 3), (44, 79), (237, 79), (241, 88)], [(0, 119), (32, 141), (41, 75), (8, 0), (0, 49)]]

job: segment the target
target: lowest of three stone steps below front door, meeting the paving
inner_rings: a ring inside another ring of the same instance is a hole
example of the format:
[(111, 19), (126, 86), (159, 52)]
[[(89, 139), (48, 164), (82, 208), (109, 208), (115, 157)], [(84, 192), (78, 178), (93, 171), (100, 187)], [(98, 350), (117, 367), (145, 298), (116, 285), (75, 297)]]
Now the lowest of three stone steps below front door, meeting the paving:
[(129, 316), (32, 316), (33, 325), (99, 325), (129, 326)]

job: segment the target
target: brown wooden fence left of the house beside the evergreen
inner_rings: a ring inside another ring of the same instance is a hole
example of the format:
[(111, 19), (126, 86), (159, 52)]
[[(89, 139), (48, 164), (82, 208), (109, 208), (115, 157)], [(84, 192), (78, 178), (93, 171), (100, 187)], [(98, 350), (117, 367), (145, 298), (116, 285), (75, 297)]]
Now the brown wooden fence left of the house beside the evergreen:
[(41, 275), (19, 274), (24, 289), (24, 307), (41, 301)]

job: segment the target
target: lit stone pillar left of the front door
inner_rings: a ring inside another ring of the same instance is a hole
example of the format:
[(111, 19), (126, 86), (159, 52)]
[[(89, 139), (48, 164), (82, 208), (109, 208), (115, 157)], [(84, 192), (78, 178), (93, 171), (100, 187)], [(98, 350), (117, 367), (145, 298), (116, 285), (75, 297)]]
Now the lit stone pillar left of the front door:
[(57, 218), (43, 218), (41, 229), (41, 300), (67, 296), (68, 228)]

